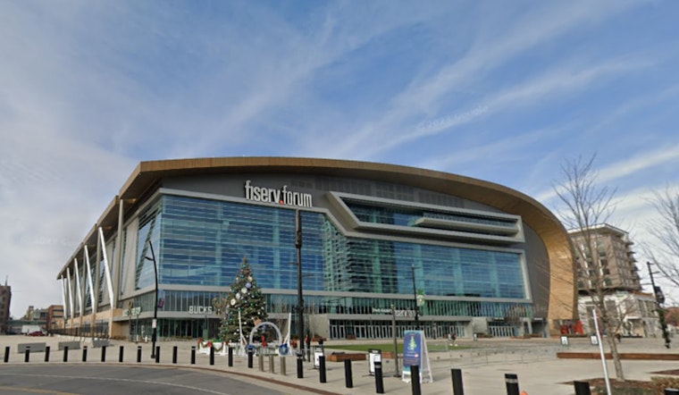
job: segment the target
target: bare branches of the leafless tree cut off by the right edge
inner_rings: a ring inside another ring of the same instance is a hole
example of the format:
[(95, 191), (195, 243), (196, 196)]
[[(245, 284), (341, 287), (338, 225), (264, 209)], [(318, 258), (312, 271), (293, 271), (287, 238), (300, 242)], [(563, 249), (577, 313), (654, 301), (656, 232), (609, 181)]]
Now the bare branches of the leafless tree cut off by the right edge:
[(645, 251), (653, 260), (664, 280), (679, 287), (679, 188), (669, 186), (656, 193), (653, 206), (659, 218), (652, 221), (649, 233), (657, 241), (653, 250)]

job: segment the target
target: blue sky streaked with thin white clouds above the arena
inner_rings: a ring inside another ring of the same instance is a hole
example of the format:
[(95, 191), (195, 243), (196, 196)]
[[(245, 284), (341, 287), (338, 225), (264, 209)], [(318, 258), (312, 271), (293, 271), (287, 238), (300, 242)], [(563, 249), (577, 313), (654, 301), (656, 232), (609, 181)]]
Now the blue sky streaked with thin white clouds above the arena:
[(641, 250), (653, 191), (679, 184), (677, 17), (674, 1), (2, 0), (12, 313), (61, 302), (57, 271), (144, 160), (405, 164), (553, 209), (560, 166), (596, 153)]

